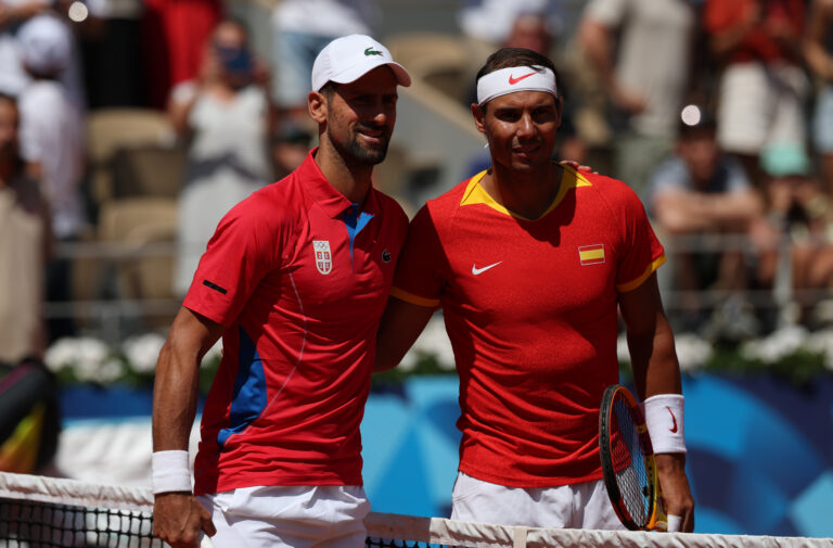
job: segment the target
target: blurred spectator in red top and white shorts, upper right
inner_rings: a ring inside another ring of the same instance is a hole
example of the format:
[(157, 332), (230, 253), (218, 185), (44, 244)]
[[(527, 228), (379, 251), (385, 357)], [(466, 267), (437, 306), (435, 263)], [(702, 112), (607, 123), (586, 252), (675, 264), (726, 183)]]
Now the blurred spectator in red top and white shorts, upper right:
[(761, 150), (768, 143), (805, 141), (805, 2), (706, 0), (703, 25), (720, 66), (718, 143), (736, 154), (762, 188)]

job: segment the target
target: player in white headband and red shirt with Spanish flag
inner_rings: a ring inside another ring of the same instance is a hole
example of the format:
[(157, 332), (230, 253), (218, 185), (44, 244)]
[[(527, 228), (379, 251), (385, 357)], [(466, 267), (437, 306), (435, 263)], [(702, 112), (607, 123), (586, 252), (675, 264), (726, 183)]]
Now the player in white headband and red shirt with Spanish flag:
[(477, 101), (492, 166), (411, 221), (375, 369), (396, 366), (441, 307), (460, 375), (451, 518), (623, 528), (598, 439), (620, 310), (669, 528), (692, 531), (680, 371), (655, 275), (665, 255), (643, 206), (625, 183), (551, 160), (562, 103), (546, 56), (499, 50)]

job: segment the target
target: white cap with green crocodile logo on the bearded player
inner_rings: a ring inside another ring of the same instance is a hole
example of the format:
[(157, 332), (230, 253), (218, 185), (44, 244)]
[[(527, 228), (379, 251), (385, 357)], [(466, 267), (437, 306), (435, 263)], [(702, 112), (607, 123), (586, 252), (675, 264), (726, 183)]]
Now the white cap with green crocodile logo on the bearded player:
[(394, 62), (387, 48), (364, 35), (349, 35), (328, 43), (312, 64), (312, 90), (320, 91), (328, 81), (349, 84), (377, 66), (387, 65), (400, 86), (410, 86), (411, 76)]

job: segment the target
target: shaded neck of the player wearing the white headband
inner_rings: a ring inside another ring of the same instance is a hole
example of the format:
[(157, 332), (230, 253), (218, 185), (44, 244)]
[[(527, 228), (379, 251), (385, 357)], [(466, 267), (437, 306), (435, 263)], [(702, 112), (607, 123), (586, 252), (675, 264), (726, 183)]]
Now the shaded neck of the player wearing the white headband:
[(480, 184), (510, 212), (526, 219), (537, 219), (555, 200), (563, 174), (564, 168), (555, 163), (530, 173), (495, 165)]

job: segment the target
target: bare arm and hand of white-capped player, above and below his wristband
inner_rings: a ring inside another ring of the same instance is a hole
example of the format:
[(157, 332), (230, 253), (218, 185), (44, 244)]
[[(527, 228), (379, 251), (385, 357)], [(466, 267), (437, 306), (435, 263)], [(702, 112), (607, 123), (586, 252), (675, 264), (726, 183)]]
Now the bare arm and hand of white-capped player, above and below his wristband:
[[(223, 327), (188, 308), (177, 314), (159, 353), (153, 391), (153, 450), (188, 451), (196, 415), (198, 370)], [(154, 490), (158, 490), (156, 486)], [(153, 533), (174, 548), (200, 546), (198, 534), (214, 535), (210, 514), (190, 490), (156, 493)]]

